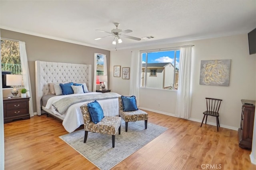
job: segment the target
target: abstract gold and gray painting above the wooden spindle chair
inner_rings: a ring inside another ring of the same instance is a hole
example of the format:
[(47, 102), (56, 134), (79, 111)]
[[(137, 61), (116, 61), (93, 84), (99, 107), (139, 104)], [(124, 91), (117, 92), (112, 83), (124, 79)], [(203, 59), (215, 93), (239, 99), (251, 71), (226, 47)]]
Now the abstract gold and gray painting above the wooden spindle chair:
[(202, 60), (200, 82), (203, 85), (229, 86), (231, 60)]

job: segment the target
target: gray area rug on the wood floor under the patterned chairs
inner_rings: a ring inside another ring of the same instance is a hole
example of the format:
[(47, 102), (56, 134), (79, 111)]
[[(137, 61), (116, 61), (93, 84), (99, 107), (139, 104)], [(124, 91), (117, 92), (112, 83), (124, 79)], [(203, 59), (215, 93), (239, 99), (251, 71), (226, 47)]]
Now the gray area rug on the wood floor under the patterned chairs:
[(122, 120), (121, 135), (116, 134), (114, 148), (112, 148), (112, 136), (100, 133), (89, 132), (87, 141), (84, 143), (84, 129), (62, 135), (60, 139), (98, 168), (109, 170), (167, 129), (152, 123), (148, 123), (148, 129), (145, 129), (144, 121), (136, 121), (129, 122), (128, 132), (125, 132), (125, 122)]

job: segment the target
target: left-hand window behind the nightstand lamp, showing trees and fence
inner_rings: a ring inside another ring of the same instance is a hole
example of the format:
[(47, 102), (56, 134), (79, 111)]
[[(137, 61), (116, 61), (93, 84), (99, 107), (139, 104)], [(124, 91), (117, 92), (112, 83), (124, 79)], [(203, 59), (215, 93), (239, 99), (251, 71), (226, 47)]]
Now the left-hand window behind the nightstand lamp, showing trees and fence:
[[(1, 68), (2, 68), (2, 73), (22, 75), (19, 42), (1, 39)], [(23, 84), (23, 81), (22, 81), (22, 84)], [(17, 87), (21, 88), (24, 86), (17, 86)], [(9, 87), (6, 87), (3, 84), (3, 88), (9, 88)]]

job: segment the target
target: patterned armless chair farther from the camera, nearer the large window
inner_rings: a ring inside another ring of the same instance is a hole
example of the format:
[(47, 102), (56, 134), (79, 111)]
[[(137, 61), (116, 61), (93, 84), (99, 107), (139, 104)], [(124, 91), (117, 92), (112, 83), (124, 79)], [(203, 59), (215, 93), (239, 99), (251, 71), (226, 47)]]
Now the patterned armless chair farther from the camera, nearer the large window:
[[(124, 98), (134, 98), (134, 102), (133, 102), (133, 104), (131, 104), (131, 105), (134, 105), (134, 109), (128, 109), (128, 110), (132, 110), (132, 111), (126, 111), (126, 109), (124, 109), (122, 97), (124, 97)], [(125, 131), (126, 132), (128, 130), (128, 122), (130, 122), (130, 121), (144, 120), (145, 121), (145, 129), (147, 129), (148, 113), (146, 113), (145, 111), (142, 111), (142, 110), (137, 108), (137, 101), (136, 101), (135, 96), (130, 96), (130, 97), (129, 96), (121, 96), (121, 97), (118, 97), (118, 104), (119, 104), (119, 116), (122, 117), (122, 119), (124, 119), (124, 121), (125, 121)]]

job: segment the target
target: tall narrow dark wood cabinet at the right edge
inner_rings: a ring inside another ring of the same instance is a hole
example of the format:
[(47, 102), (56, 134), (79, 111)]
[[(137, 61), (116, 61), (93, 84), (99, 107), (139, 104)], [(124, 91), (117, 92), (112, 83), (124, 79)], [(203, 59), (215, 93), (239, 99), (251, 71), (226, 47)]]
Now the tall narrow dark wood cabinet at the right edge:
[(252, 149), (255, 101), (242, 99), (241, 102), (241, 123), (240, 128), (238, 128), (239, 147), (243, 149)]

